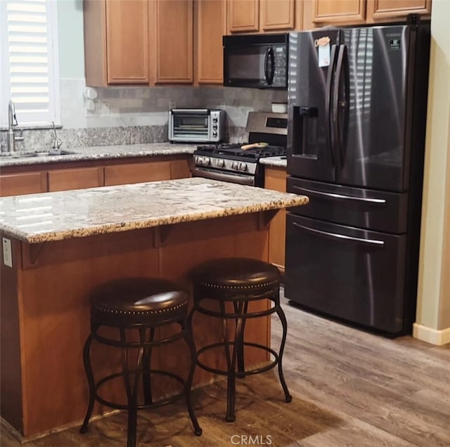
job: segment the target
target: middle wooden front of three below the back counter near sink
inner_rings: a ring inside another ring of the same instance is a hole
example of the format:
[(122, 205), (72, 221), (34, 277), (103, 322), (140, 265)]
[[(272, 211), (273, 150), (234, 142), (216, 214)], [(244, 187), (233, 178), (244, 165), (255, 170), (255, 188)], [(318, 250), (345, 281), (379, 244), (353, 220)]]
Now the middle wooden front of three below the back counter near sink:
[(96, 188), (103, 186), (103, 167), (53, 169), (47, 173), (49, 191)]

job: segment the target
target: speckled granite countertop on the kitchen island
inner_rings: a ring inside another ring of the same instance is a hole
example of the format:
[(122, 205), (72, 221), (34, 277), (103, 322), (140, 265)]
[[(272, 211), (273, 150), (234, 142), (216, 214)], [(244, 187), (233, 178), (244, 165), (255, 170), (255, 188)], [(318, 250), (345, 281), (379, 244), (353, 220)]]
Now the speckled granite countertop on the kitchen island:
[(0, 231), (30, 243), (305, 205), (308, 197), (198, 177), (0, 199)]

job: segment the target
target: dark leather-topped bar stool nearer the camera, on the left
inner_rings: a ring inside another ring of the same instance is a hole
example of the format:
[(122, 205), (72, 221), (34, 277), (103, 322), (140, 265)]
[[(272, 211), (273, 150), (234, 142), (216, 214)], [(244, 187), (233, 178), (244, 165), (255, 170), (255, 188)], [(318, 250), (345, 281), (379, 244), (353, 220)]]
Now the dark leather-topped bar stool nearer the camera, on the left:
[[(187, 309), (188, 295), (180, 290), (176, 283), (168, 280), (125, 278), (105, 283), (94, 289), (91, 294), (91, 332), (83, 350), (84, 369), (89, 383), (89, 405), (79, 430), (80, 433), (87, 432), (94, 402), (98, 401), (110, 408), (128, 411), (127, 447), (134, 447), (136, 446), (137, 410), (162, 406), (184, 395), (195, 435), (202, 434), (191, 404), (191, 385), (196, 355), (192, 332), (187, 325)], [(156, 328), (172, 323), (179, 324), (179, 332), (164, 339), (155, 338)], [(113, 330), (109, 330), (105, 335), (105, 330), (99, 331), (101, 327), (113, 328)], [(116, 334), (118, 337), (115, 337)], [(150, 365), (153, 347), (179, 339), (184, 339), (191, 354), (191, 366), (186, 380), (169, 371), (152, 369)], [(91, 344), (94, 340), (122, 349), (122, 370), (103, 377), (97, 382), (94, 380), (91, 365)], [(135, 364), (130, 360), (129, 349), (134, 349), (135, 352), (138, 350)], [(183, 391), (176, 396), (153, 401), (150, 381), (152, 375), (172, 377), (182, 385)], [(98, 389), (103, 384), (117, 377), (122, 377), (124, 381), (127, 404), (108, 401), (98, 394)], [(139, 403), (138, 388), (141, 380), (143, 401), (141, 399)]]

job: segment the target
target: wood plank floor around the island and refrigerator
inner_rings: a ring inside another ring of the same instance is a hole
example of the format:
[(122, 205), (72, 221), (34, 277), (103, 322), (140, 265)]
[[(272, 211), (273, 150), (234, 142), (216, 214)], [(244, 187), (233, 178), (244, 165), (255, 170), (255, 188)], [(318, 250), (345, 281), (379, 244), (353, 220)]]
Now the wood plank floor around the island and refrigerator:
[[(277, 447), (450, 446), (450, 344), (385, 339), (300, 311), (285, 302), (289, 332), (285, 403), (274, 370), (238, 384), (236, 422), (224, 421), (226, 387), (193, 393), (203, 436), (195, 437), (182, 402), (141, 411), (139, 446)], [(274, 319), (274, 345), (281, 326)], [(126, 445), (124, 413), (68, 429), (30, 447)], [(252, 436), (245, 439), (245, 436)], [(2, 427), (0, 445), (20, 446)]]

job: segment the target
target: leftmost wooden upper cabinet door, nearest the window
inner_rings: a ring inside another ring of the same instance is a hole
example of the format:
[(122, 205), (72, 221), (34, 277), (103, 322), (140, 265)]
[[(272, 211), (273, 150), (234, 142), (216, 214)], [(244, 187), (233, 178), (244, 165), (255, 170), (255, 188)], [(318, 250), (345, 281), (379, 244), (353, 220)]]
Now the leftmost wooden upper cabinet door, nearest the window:
[(147, 0), (107, 0), (105, 13), (108, 84), (148, 84)]

